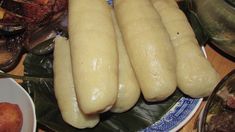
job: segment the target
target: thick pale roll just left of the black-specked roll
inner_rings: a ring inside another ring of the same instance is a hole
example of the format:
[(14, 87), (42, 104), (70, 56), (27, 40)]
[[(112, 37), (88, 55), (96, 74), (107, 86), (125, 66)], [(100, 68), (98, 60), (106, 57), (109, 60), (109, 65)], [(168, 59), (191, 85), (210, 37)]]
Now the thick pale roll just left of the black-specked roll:
[(166, 99), (176, 89), (176, 62), (160, 16), (148, 0), (116, 0), (114, 9), (144, 98)]

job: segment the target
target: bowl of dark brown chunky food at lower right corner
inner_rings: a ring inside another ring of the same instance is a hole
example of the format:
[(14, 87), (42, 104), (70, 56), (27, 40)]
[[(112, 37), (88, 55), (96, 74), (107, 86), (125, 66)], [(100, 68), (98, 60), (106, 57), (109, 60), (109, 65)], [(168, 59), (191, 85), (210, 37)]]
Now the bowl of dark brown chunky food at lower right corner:
[(215, 87), (198, 120), (198, 131), (235, 130), (235, 70)]

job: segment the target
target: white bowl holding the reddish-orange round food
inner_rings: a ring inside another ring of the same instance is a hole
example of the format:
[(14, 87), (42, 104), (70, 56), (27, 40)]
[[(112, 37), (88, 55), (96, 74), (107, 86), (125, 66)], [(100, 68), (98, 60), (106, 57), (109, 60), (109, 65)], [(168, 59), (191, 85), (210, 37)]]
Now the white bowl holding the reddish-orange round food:
[(22, 132), (36, 131), (34, 103), (25, 89), (13, 79), (0, 79), (0, 102), (17, 104), (20, 107), (23, 115)]

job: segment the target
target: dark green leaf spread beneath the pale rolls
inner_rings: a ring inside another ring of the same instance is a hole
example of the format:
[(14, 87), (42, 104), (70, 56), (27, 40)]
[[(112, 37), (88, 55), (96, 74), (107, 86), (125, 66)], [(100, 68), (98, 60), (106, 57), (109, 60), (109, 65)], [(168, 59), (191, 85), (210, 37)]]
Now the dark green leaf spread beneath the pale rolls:
[[(183, 9), (186, 9), (184, 11), (187, 11), (187, 4), (182, 5)], [(196, 20), (194, 17), (189, 18), (193, 21)], [(195, 26), (194, 24), (193, 27), (196, 27), (195, 33), (200, 43), (204, 43), (207, 37), (202, 35), (200, 25)], [(27, 76), (53, 78), (53, 54), (39, 56), (29, 53), (25, 58), (24, 67)], [(24, 81), (22, 86), (33, 98), (38, 126), (43, 126), (46, 131), (56, 132), (140, 131), (158, 121), (181, 97), (185, 97), (179, 90), (176, 90), (167, 100), (157, 103), (147, 103), (141, 96), (130, 111), (121, 114), (106, 112), (101, 114), (101, 121), (95, 128), (81, 130), (63, 121), (54, 95), (53, 81), (43, 79)]]

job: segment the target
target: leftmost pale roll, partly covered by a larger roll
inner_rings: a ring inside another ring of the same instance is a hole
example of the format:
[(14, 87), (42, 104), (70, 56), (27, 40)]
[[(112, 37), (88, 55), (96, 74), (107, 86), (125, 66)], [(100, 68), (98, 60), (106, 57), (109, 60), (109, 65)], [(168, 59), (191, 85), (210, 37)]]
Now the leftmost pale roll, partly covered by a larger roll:
[(75, 93), (69, 42), (57, 36), (54, 48), (54, 90), (63, 120), (76, 128), (94, 127), (99, 115), (85, 115), (78, 106)]

